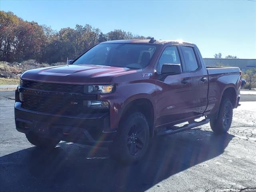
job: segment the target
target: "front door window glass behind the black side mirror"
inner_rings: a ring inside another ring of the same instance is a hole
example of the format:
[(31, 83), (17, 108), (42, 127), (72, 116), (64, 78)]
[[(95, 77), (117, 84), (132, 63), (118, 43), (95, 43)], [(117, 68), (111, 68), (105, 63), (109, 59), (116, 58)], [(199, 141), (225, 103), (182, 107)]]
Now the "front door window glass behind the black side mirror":
[(176, 46), (169, 46), (165, 48), (158, 61), (158, 65), (156, 67), (157, 72), (161, 72), (163, 64), (180, 64), (180, 56)]

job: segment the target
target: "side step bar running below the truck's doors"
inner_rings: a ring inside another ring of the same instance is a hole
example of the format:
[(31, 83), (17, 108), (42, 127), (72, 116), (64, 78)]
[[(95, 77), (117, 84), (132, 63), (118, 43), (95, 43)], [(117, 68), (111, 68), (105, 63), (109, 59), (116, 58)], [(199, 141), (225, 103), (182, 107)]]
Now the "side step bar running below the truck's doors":
[(192, 123), (186, 124), (186, 125), (184, 125), (184, 126), (182, 126), (182, 127), (172, 126), (172, 128), (170, 128), (170, 129), (156, 132), (156, 135), (160, 135), (160, 136), (161, 136), (161, 135), (170, 135), (170, 134), (182, 132), (182, 131), (184, 131), (184, 130), (192, 129), (192, 128), (195, 128), (195, 127), (198, 127), (198, 126), (207, 124), (209, 121), (210, 121), (210, 119), (205, 118), (205, 119), (202, 120), (202, 121), (199, 121), (199, 122), (192, 122)]

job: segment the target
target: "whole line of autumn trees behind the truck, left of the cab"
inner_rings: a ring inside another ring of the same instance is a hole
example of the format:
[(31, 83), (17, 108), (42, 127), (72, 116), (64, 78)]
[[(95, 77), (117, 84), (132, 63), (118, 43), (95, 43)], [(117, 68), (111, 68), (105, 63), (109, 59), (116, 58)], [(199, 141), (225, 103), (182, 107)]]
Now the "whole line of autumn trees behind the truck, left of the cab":
[(34, 59), (38, 62), (65, 62), (76, 58), (100, 42), (122, 39), (148, 39), (121, 29), (106, 34), (88, 24), (75, 28), (53, 30), (37, 22), (24, 21), (12, 12), (0, 11), (0, 60), (21, 62)]

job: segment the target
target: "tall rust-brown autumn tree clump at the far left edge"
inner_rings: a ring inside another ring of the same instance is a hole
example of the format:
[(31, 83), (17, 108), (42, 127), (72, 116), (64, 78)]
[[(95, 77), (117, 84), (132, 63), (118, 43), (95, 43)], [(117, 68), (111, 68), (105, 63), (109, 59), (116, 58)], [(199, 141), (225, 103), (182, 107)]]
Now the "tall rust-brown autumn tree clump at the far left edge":
[(27, 22), (12, 12), (0, 12), (0, 58), (22, 61), (42, 57), (44, 31), (36, 22)]

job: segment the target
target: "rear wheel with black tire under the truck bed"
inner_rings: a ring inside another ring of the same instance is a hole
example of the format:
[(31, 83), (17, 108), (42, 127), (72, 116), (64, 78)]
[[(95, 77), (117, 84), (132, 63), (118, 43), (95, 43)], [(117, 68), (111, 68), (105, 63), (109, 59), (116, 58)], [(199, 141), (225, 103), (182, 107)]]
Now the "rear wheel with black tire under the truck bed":
[(210, 126), (216, 134), (228, 132), (233, 116), (233, 106), (228, 98), (222, 100), (217, 119), (210, 119)]

